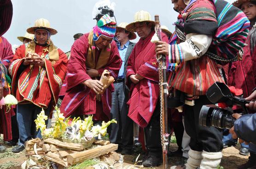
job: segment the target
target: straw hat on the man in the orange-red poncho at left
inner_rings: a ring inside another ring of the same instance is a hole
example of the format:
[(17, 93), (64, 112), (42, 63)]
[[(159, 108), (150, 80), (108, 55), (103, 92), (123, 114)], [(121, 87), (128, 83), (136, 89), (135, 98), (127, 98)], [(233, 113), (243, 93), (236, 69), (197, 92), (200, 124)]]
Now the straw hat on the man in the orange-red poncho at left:
[(36, 29), (47, 29), (51, 35), (55, 35), (56, 33), (58, 33), (55, 29), (50, 27), (50, 22), (47, 19), (41, 18), (41, 19), (37, 19), (35, 21), (35, 26), (34, 27), (29, 27), (27, 29), (28, 33), (31, 34), (35, 34), (35, 30)]

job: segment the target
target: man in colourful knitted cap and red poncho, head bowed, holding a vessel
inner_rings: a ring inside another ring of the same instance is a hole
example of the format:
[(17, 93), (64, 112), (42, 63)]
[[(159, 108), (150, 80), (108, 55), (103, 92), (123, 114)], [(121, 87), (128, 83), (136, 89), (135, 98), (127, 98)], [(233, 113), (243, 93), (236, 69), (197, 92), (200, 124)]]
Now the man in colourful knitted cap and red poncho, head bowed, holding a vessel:
[(111, 84), (102, 93), (103, 84), (99, 77), (108, 70), (117, 78), (122, 60), (116, 43), (112, 41), (115, 33), (116, 22), (105, 14), (92, 32), (84, 34), (73, 44), (64, 83), (66, 93), (60, 107), (65, 117), (93, 114), (94, 120), (110, 120), (114, 87)]

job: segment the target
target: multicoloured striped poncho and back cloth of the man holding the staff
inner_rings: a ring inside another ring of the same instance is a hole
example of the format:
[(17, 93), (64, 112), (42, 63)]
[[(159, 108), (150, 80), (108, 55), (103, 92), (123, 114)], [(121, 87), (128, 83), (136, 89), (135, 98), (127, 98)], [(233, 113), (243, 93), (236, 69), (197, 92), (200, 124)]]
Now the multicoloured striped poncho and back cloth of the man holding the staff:
[[(180, 15), (176, 27), (185, 34), (196, 33), (213, 37), (208, 51), (231, 59), (245, 45), (250, 22), (242, 11), (224, 0), (192, 0)], [(170, 86), (192, 96), (204, 95), (214, 82), (224, 82), (215, 60), (203, 55), (198, 59), (183, 60), (179, 48), (179, 34), (170, 40), (169, 63), (176, 63), (175, 76), (169, 78)], [(223, 64), (219, 62), (219, 64)]]

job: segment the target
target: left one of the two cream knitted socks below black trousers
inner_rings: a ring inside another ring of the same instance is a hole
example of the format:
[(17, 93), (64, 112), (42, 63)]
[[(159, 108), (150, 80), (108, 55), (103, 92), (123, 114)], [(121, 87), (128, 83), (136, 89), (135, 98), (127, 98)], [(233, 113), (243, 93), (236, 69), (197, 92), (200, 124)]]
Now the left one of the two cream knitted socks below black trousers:
[[(186, 169), (196, 169), (200, 166), (202, 160), (202, 152), (190, 149), (188, 151), (188, 159), (186, 161)], [(176, 168), (177, 167), (177, 168)], [(171, 169), (179, 169), (180, 166), (172, 166)]]

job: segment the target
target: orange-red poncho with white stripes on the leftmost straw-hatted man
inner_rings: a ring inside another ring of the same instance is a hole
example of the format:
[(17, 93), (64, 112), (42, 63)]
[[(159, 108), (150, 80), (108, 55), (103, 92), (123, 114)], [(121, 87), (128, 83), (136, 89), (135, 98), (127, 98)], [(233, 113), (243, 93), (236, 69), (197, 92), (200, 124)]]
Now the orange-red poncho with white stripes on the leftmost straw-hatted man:
[[(44, 58), (45, 67), (23, 65), (29, 45)], [(53, 110), (64, 81), (68, 59), (62, 50), (54, 46), (48, 48), (49, 52), (43, 52), (45, 48), (35, 42), (21, 45), (15, 52), (9, 72), (12, 76), (12, 93), (18, 103), (33, 103), (41, 108), (51, 106)]]

